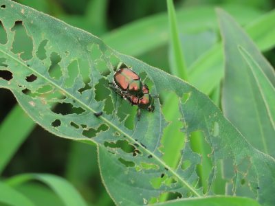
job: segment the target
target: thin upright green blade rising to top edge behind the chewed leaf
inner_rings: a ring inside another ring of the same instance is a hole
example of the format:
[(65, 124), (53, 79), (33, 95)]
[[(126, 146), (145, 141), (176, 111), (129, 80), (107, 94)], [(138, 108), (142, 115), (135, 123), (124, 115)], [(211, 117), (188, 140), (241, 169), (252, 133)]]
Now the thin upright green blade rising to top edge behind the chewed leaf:
[(174, 62), (175, 68), (170, 68), (173, 75), (181, 78), (182, 80), (187, 80), (186, 63), (184, 60), (184, 53), (181, 49), (181, 43), (179, 41), (179, 30), (177, 28), (177, 17), (175, 14), (175, 8), (173, 0), (167, 0), (167, 10), (168, 10), (168, 21), (170, 28), (170, 47), (171, 56), (170, 58)]

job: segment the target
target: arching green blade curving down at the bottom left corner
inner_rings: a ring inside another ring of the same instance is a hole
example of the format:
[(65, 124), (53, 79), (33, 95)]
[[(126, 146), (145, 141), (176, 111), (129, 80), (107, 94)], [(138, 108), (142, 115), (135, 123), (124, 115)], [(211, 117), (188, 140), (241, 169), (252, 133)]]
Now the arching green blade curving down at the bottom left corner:
[(80, 194), (69, 182), (59, 176), (54, 176), (52, 174), (19, 174), (8, 179), (6, 182), (8, 185), (16, 187), (17, 185), (21, 185), (32, 180), (38, 180), (48, 185), (67, 206), (87, 205)]

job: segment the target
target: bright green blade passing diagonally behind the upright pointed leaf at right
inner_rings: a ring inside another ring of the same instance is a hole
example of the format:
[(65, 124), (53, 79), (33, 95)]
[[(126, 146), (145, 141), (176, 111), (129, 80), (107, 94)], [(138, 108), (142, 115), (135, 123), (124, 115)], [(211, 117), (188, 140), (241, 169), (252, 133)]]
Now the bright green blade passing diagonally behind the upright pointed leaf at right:
[[(264, 14), (246, 27), (248, 34), (262, 51), (274, 47), (275, 28), (272, 26), (274, 23), (275, 10)], [(219, 43), (209, 49), (206, 54), (201, 56), (190, 67), (190, 73), (188, 73), (190, 77), (189, 82), (203, 91), (203, 93), (209, 94), (219, 85), (221, 78), (223, 78), (223, 73), (222, 45)]]

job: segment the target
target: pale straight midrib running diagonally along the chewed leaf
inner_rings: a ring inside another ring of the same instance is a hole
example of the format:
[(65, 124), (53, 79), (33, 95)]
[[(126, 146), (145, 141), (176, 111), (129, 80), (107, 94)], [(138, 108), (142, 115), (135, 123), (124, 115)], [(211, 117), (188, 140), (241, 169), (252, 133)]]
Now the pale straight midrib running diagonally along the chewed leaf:
[[(44, 80), (46, 80), (47, 82), (50, 82), (50, 84), (52, 84), (54, 87), (60, 89), (61, 91), (63, 91), (66, 95), (69, 96), (69, 98), (72, 98), (73, 100), (76, 100), (76, 102), (78, 102), (80, 105), (82, 105), (84, 108), (87, 108), (87, 110), (91, 111), (92, 113), (96, 113), (96, 111), (94, 111), (93, 108), (87, 106), (84, 102), (82, 102), (81, 100), (78, 100), (78, 98), (75, 98), (74, 95), (72, 95), (71, 93), (67, 92), (65, 89), (63, 89), (62, 87), (60, 87), (58, 84), (56, 84), (55, 82), (53, 82), (52, 80), (46, 78), (45, 76), (41, 75), (41, 73), (37, 72), (35, 69), (32, 69), (32, 67), (28, 67), (28, 65), (25, 65), (24, 62), (22, 62), (21, 60), (18, 60), (17, 58), (14, 58), (14, 56), (8, 54), (7, 52), (3, 51), (2, 49), (0, 49), (0, 52), (2, 52), (3, 54), (5, 54), (6, 56), (14, 59), (15, 61), (19, 62), (19, 64), (23, 65), (24, 67), (26, 67), (27, 69), (30, 69), (30, 71), (34, 72), (37, 76), (43, 78)], [(130, 141), (134, 141), (134, 139), (129, 136), (127, 133), (124, 133), (123, 130), (121, 130), (120, 128), (118, 128), (118, 126), (115, 126), (115, 124), (113, 124), (112, 122), (110, 122), (108, 119), (102, 117), (102, 115), (100, 117), (98, 117), (100, 119), (102, 119), (104, 122), (106, 122), (107, 124), (109, 124), (109, 126), (115, 128), (115, 130), (118, 130), (118, 132), (122, 133), (127, 139), (129, 139)], [(96, 141), (90, 139), (91, 141), (93, 141), (95, 144), (98, 144)], [(141, 148), (142, 145), (138, 142), (135, 141), (136, 144), (138, 144)], [(164, 165), (164, 168), (167, 168), (173, 175), (175, 175), (177, 177), (177, 179), (179, 179), (179, 181), (181, 183), (183, 183), (184, 185), (186, 185), (186, 187), (188, 187), (189, 190), (192, 191), (193, 194), (195, 194), (195, 196), (201, 196), (194, 187), (192, 187), (192, 185), (188, 184), (186, 181), (184, 181), (184, 179), (181, 178), (181, 176), (179, 176), (179, 174), (177, 174), (172, 168), (170, 168), (168, 165), (166, 165), (166, 163), (164, 163), (161, 159), (159, 159), (159, 157), (157, 157), (153, 152), (151, 152), (150, 150), (146, 150), (144, 148), (144, 150), (149, 154), (152, 155), (152, 157), (158, 161), (160, 164)]]

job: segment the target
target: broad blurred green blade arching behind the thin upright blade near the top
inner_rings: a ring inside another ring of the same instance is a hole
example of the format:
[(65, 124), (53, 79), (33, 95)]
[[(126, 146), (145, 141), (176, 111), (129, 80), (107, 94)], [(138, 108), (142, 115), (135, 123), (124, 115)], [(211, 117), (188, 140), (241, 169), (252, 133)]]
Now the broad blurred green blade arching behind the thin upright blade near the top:
[[(223, 8), (234, 15), (241, 25), (259, 18), (261, 12), (240, 5), (224, 5)], [(272, 16), (270, 16), (270, 19)], [(192, 21), (190, 21), (192, 19)], [(203, 30), (218, 30), (214, 6), (198, 6), (181, 8), (177, 10), (177, 21), (179, 33), (192, 33)], [(260, 30), (262, 31), (262, 30)], [(265, 39), (272, 30), (263, 32)], [(155, 14), (153, 16), (134, 21), (113, 30), (102, 36), (102, 40), (113, 49), (131, 56), (145, 54), (152, 49), (168, 43), (168, 21), (167, 13)], [(142, 35), (141, 35), (142, 34)], [(270, 38), (272, 36), (270, 35)], [(135, 39), (135, 41), (133, 41)], [(259, 36), (259, 40), (263, 38)], [(268, 41), (269, 39), (266, 39)], [(141, 46), (142, 45), (142, 46)]]

